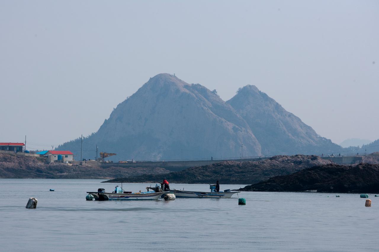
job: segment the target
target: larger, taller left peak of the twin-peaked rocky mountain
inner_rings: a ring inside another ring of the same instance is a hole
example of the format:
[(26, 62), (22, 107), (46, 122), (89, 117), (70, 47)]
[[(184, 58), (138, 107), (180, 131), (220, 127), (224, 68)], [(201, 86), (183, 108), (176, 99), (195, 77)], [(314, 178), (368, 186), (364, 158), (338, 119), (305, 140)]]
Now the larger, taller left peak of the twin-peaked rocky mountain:
[[(112, 158), (118, 160), (239, 157), (242, 142), (244, 156), (261, 154), (246, 121), (229, 104), (167, 73), (150, 78), (84, 142), (83, 158), (95, 156), (95, 145), (117, 153)], [(78, 155), (80, 140), (58, 149)]]

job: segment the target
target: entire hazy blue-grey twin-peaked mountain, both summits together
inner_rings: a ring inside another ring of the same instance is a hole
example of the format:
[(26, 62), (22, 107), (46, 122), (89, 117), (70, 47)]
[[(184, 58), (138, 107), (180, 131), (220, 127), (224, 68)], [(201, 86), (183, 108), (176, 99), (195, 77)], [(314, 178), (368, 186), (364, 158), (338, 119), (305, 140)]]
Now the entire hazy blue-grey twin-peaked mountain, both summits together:
[[(120, 103), (100, 129), (83, 140), (83, 158), (114, 152), (110, 160), (318, 154), (340, 146), (319, 137), (255, 86), (225, 102), (200, 84), (168, 73), (150, 78)], [(80, 139), (68, 149), (80, 159)]]

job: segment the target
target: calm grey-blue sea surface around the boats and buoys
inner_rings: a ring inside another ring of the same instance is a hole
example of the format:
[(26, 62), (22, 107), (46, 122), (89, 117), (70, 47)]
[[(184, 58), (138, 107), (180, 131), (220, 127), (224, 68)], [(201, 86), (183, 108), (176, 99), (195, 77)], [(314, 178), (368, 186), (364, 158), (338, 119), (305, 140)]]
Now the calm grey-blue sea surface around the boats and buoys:
[[(231, 199), (86, 201), (117, 184), (0, 179), (0, 251), (378, 251), (379, 197), (242, 192)], [(144, 190), (150, 184), (124, 184)], [(235, 189), (244, 185), (221, 185)], [(209, 185), (170, 184), (209, 191)], [(55, 189), (51, 192), (49, 189)], [(328, 197), (329, 196), (329, 197)], [(26, 209), (30, 197), (36, 209)]]

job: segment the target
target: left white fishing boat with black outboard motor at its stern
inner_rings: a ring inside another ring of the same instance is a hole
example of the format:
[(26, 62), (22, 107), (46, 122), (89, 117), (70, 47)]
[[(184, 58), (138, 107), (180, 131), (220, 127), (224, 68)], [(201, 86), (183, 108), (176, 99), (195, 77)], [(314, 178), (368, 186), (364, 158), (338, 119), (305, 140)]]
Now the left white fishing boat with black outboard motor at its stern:
[(146, 200), (146, 199), (159, 199), (161, 195), (167, 192), (141, 192), (132, 193), (124, 191), (122, 187), (116, 186), (111, 193), (105, 192), (104, 188), (99, 188), (96, 192), (88, 191), (88, 194), (94, 196), (96, 201), (110, 201), (110, 200)]

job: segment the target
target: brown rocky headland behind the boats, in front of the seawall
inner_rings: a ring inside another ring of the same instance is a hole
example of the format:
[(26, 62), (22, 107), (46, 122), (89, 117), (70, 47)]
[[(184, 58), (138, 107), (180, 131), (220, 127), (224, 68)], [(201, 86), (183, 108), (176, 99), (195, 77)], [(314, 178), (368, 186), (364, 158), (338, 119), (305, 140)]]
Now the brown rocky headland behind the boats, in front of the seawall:
[(315, 165), (329, 164), (318, 156), (275, 156), (261, 161), (226, 161), (212, 165), (196, 166), (167, 174), (124, 177), (105, 182), (160, 182), (210, 184), (219, 180), (221, 184), (252, 184), (270, 177), (291, 174)]

